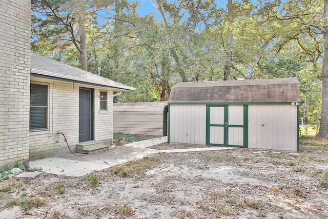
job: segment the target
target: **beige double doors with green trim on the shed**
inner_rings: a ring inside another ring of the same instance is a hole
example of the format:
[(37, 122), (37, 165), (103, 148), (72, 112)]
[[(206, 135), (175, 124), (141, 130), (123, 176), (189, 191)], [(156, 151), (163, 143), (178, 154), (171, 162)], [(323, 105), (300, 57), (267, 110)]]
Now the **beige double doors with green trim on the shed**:
[(248, 105), (208, 105), (206, 144), (248, 147)]

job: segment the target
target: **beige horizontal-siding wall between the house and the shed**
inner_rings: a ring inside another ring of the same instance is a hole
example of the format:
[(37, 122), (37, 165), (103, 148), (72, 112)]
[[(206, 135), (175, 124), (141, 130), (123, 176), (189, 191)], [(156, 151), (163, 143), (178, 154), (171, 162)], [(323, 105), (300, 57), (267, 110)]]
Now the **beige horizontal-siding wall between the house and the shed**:
[(163, 135), (163, 106), (114, 107), (114, 132)]

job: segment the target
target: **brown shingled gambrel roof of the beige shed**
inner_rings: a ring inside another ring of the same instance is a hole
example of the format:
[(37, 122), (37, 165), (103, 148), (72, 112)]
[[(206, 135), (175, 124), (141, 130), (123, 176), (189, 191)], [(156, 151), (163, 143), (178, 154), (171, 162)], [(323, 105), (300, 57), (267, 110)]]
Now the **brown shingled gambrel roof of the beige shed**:
[(219, 82), (181, 82), (169, 103), (285, 103), (300, 101), (296, 77)]

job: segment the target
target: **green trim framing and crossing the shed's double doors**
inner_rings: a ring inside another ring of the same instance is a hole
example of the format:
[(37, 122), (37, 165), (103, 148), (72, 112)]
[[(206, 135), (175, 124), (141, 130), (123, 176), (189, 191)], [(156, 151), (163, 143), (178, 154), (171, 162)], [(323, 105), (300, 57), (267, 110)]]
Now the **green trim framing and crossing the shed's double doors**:
[[(243, 104), (230, 104), (230, 105), (243, 105)], [(224, 107), (224, 124), (210, 124), (210, 109), (211, 107)], [(229, 125), (229, 105), (206, 105), (206, 145), (212, 146), (223, 146), (223, 147), (238, 147), (238, 148), (248, 148), (248, 105), (243, 105), (243, 125)], [(224, 127), (228, 125), (228, 128), (224, 128), (224, 139), (223, 144), (211, 144), (210, 143), (210, 128), (211, 127)], [(243, 128), (243, 145), (229, 145), (228, 136), (229, 136), (229, 127), (239, 127)]]

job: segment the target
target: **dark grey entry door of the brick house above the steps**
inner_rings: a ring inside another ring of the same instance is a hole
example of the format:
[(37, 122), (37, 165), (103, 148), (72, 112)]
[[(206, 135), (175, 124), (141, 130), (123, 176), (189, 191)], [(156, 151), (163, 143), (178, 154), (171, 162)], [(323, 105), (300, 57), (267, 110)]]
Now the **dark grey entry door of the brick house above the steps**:
[(90, 141), (92, 130), (92, 89), (80, 88), (79, 94), (79, 142)]

